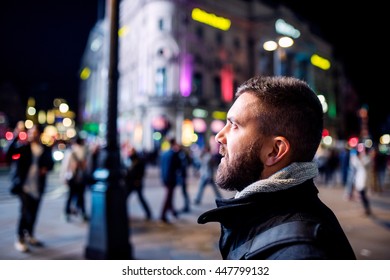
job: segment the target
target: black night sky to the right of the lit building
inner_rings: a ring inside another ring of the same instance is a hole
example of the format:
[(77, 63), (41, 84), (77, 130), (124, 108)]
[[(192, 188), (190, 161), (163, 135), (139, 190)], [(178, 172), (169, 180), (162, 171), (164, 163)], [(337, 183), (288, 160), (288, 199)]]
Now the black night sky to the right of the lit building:
[[(277, 0), (307, 20), (322, 38), (334, 47), (335, 57), (345, 67), (346, 74), (360, 98), (369, 108), (370, 130), (374, 137), (390, 132), (390, 93), (387, 65), (389, 53), (385, 47), (387, 10), (378, 0), (302, 1)], [(387, 120), (387, 126), (385, 122)]]

